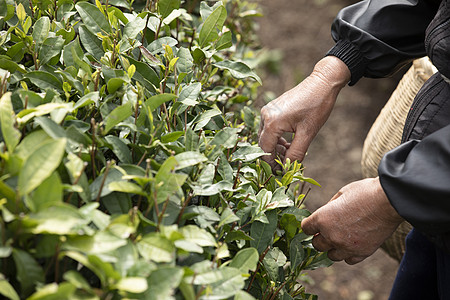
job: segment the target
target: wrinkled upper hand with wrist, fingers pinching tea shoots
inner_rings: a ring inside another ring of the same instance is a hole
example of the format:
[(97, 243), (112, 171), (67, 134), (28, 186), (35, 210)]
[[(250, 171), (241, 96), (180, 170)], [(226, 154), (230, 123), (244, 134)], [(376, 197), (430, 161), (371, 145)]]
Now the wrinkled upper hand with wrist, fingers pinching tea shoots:
[[(338, 58), (327, 56), (299, 85), (261, 109), (259, 145), (270, 156), (263, 157), (272, 168), (275, 159), (302, 161), (319, 129), (328, 119), (340, 90), (350, 80), (348, 67)], [(293, 132), (288, 143), (283, 133)]]

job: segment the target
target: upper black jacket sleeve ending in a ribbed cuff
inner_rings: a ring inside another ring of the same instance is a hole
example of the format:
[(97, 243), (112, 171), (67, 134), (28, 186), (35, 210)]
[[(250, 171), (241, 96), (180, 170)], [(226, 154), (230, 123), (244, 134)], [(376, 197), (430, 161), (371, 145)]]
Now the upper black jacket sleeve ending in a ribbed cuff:
[(439, 7), (436, 0), (365, 0), (342, 9), (331, 32), (336, 45), (327, 53), (352, 74), (380, 78), (425, 55), (425, 30)]

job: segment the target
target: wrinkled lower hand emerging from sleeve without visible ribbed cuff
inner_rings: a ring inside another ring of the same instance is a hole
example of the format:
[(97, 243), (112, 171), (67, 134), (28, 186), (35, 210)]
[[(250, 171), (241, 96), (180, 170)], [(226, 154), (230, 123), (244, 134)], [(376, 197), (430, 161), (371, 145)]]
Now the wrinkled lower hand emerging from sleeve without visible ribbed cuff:
[(369, 178), (343, 187), (326, 205), (302, 221), (313, 246), (334, 261), (356, 264), (372, 255), (403, 219), (380, 181)]

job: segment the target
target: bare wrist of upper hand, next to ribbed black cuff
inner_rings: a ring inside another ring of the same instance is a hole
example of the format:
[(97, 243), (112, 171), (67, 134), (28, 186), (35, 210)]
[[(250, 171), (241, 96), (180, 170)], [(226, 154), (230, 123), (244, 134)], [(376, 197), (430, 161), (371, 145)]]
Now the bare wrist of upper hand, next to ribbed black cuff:
[(317, 62), (311, 76), (323, 80), (327, 85), (338, 90), (346, 86), (351, 79), (347, 65), (335, 56), (326, 56)]

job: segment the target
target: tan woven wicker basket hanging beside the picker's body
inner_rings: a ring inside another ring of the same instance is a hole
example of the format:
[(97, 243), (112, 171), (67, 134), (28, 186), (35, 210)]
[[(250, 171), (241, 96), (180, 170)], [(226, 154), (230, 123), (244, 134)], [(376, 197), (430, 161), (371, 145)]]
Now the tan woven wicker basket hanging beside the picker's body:
[[(436, 71), (428, 57), (424, 57), (415, 60), (403, 76), (364, 141), (361, 159), (364, 177), (378, 176), (378, 165), (383, 155), (400, 145), (403, 126), (414, 97)], [(405, 237), (410, 230), (411, 225), (403, 222), (381, 248), (400, 261), (405, 252)]]

